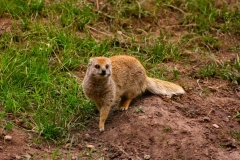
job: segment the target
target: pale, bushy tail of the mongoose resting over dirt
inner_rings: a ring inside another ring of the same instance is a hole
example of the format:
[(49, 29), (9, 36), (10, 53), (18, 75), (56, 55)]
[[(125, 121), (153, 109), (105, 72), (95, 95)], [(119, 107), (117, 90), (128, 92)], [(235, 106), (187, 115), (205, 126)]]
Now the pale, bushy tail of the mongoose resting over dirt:
[(166, 95), (172, 97), (172, 95), (184, 94), (185, 91), (179, 85), (171, 82), (149, 78), (147, 77), (147, 90), (153, 94)]

